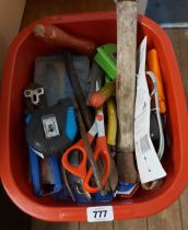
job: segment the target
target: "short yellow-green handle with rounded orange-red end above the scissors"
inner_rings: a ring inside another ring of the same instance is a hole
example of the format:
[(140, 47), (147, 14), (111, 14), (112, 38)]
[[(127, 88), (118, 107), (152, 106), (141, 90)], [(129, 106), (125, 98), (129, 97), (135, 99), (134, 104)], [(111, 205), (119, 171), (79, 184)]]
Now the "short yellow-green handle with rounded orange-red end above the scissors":
[(115, 81), (105, 83), (105, 85), (99, 91), (91, 94), (90, 104), (96, 108), (102, 106), (111, 95), (114, 95), (115, 91), (116, 91)]

